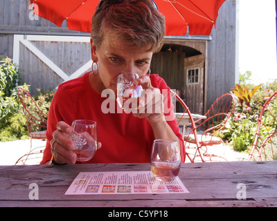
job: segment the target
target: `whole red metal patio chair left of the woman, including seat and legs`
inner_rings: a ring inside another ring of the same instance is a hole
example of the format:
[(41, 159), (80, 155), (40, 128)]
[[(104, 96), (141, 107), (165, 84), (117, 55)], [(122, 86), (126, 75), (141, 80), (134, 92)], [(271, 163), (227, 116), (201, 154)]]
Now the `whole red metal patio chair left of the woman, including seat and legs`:
[(26, 117), (28, 135), (30, 137), (30, 151), (20, 157), (15, 164), (19, 162), (25, 164), (29, 155), (42, 153), (42, 151), (37, 151), (39, 147), (33, 148), (32, 141), (33, 139), (46, 140), (47, 115), (42, 112), (33, 97), (24, 88), (18, 88), (17, 95)]

